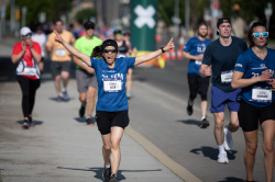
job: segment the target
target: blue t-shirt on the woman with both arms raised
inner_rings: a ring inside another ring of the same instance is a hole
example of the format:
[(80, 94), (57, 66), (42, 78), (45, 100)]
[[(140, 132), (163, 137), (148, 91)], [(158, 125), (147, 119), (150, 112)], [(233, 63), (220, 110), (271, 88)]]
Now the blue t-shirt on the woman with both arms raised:
[(128, 110), (125, 94), (127, 71), (134, 66), (135, 57), (116, 58), (113, 68), (105, 59), (90, 58), (98, 81), (98, 102), (96, 110), (118, 112)]

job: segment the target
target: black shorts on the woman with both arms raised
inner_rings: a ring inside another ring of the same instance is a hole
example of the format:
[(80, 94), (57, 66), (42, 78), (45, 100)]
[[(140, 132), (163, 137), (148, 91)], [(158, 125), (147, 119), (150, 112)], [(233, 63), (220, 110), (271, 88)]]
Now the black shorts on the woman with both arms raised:
[(96, 121), (101, 135), (110, 134), (112, 126), (119, 126), (124, 129), (130, 122), (128, 110), (118, 112), (96, 111)]

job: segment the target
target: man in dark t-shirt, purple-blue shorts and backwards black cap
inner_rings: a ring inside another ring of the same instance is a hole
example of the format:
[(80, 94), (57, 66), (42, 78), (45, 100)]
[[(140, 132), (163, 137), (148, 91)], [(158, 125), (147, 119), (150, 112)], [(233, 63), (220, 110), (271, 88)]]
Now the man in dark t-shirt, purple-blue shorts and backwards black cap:
[[(231, 88), (232, 73), (238, 56), (248, 49), (240, 38), (231, 36), (231, 22), (227, 18), (217, 22), (217, 35), (220, 37), (208, 45), (199, 70), (201, 77), (212, 76), (211, 109), (215, 116), (215, 138), (219, 146), (218, 162), (228, 163), (226, 150), (233, 145), (231, 133), (239, 128), (237, 95), (240, 89)], [(223, 128), (224, 109), (230, 111), (230, 123)], [(226, 150), (224, 150), (226, 149)]]

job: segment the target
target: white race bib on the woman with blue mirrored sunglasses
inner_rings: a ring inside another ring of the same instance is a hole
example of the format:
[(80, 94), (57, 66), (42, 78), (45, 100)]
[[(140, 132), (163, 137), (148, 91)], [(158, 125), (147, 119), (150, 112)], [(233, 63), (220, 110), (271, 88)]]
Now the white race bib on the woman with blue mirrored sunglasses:
[(252, 100), (256, 102), (272, 102), (272, 89), (267, 88), (253, 88)]

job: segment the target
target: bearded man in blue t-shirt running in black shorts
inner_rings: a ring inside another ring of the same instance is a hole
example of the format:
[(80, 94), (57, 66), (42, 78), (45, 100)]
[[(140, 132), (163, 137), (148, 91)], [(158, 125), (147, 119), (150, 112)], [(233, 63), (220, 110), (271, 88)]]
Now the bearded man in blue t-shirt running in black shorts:
[(189, 84), (189, 100), (187, 103), (188, 115), (193, 114), (193, 104), (197, 94), (201, 98), (201, 124), (200, 128), (209, 126), (207, 121), (207, 92), (209, 87), (210, 77), (201, 77), (199, 75), (199, 68), (204, 58), (204, 53), (208, 44), (211, 43), (207, 38), (208, 26), (206, 23), (200, 23), (198, 29), (198, 36), (190, 38), (184, 47), (183, 56), (190, 59), (187, 70), (187, 79)]

